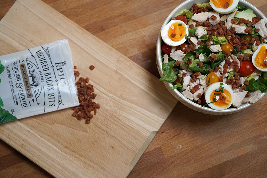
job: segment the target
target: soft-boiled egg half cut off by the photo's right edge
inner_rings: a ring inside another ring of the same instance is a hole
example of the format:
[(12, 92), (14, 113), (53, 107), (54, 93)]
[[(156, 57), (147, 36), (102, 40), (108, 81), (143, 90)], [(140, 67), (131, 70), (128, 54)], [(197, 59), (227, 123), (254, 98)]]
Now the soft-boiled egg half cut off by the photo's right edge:
[(253, 65), (260, 71), (267, 71), (267, 44), (260, 45), (252, 55)]

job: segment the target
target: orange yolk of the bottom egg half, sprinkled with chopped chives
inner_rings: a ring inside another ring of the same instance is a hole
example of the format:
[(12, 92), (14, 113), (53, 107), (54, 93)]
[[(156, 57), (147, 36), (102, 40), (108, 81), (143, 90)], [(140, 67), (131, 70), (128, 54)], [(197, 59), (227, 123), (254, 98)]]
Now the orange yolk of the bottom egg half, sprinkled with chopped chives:
[[(220, 90), (220, 91), (218, 91)], [(223, 91), (223, 93), (222, 93)], [(214, 93), (220, 93), (220, 95), (215, 95)], [(221, 96), (224, 96), (226, 97), (225, 101), (222, 101), (220, 99)], [(228, 90), (225, 90), (225, 89), (216, 89), (212, 92), (212, 94), (210, 95), (210, 101), (214, 101), (214, 98), (216, 100), (216, 102), (212, 103), (214, 104), (215, 106), (218, 106), (218, 107), (228, 107), (229, 104), (231, 103), (231, 100), (232, 100), (232, 97), (231, 97), (231, 94)]]

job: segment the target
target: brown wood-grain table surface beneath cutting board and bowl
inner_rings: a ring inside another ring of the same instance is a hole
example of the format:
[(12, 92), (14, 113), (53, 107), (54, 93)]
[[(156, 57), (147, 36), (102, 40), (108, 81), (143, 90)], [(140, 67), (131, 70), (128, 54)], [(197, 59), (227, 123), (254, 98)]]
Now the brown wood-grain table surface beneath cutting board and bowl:
[[(160, 27), (183, 2), (43, 1), (157, 77)], [(0, 1), (0, 19), (14, 2)], [(267, 16), (266, 0), (249, 2)], [(128, 177), (267, 177), (266, 104), (267, 95), (245, 111), (214, 116), (178, 103)], [(0, 177), (52, 176), (1, 141)]]

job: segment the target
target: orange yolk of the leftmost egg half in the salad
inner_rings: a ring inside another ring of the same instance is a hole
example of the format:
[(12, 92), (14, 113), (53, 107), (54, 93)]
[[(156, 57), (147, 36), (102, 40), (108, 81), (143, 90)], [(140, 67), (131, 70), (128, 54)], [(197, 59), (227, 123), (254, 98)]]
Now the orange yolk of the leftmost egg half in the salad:
[(185, 32), (185, 25), (179, 22), (175, 22), (170, 26), (168, 35), (172, 41), (177, 42), (184, 38)]

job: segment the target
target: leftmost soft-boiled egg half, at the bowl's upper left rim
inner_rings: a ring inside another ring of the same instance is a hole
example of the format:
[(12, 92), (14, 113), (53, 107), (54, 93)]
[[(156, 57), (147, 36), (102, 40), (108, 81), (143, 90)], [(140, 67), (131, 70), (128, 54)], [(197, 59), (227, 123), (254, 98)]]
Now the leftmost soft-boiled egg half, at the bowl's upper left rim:
[(188, 28), (181, 20), (171, 20), (161, 29), (161, 38), (169, 46), (179, 46), (186, 41)]

